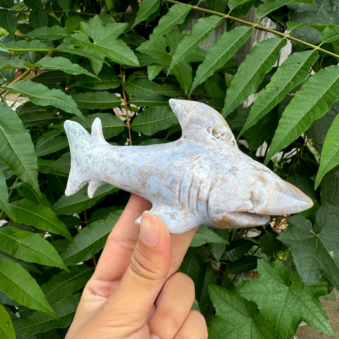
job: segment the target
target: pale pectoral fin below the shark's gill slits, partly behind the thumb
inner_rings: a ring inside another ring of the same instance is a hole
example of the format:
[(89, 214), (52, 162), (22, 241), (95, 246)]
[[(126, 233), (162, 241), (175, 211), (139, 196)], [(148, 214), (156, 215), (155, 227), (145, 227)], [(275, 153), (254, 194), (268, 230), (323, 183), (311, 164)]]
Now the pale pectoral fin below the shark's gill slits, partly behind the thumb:
[[(180, 234), (192, 230), (192, 228), (199, 225), (194, 220), (178, 210), (178, 208), (170, 206), (153, 206), (149, 212), (155, 214), (163, 220), (171, 234)], [(188, 214), (188, 213), (187, 213)], [(141, 217), (139, 217), (135, 223), (140, 225)]]

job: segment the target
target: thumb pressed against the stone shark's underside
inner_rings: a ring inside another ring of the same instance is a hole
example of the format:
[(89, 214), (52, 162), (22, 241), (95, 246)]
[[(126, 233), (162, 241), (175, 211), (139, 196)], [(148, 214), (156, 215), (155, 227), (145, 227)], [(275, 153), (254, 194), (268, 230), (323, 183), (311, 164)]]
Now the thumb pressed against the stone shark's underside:
[(113, 309), (123, 311), (121, 314), (131, 321), (146, 321), (166, 281), (171, 260), (172, 243), (166, 225), (159, 217), (145, 211), (131, 263), (111, 297)]

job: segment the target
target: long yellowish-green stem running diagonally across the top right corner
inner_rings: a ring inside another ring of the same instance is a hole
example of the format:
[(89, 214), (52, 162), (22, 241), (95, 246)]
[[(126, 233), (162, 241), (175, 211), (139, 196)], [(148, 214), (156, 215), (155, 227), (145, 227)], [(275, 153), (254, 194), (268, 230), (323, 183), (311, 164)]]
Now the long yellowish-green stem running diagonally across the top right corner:
[[(165, 0), (166, 2), (171, 2), (171, 3), (175, 3), (175, 4), (182, 4), (182, 2), (179, 2), (179, 1), (176, 1), (176, 0)], [(264, 27), (264, 26), (260, 26), (259, 24), (257, 23), (253, 23), (253, 22), (249, 22), (249, 21), (245, 21), (245, 20), (242, 20), (242, 19), (238, 19), (238, 18), (235, 18), (235, 17), (231, 17), (230, 15), (228, 14), (223, 14), (223, 13), (219, 13), (219, 12), (215, 12), (215, 11), (211, 11), (210, 9), (206, 9), (206, 8), (201, 8), (201, 7), (197, 7), (197, 6), (193, 6), (193, 5), (188, 5), (186, 4), (187, 6), (190, 6), (191, 8), (193, 9), (197, 9), (198, 11), (202, 11), (202, 12), (205, 12), (205, 13), (210, 13), (210, 14), (213, 14), (213, 15), (217, 15), (219, 17), (223, 17), (223, 18), (227, 18), (227, 19), (231, 19), (231, 20), (234, 20), (234, 21), (237, 21), (237, 22), (240, 22), (246, 26), (250, 26), (250, 27), (253, 27), (253, 28), (256, 28), (256, 29), (259, 29), (260, 31), (265, 31), (265, 32), (270, 32), (270, 33), (273, 33), (275, 35), (278, 35), (282, 38), (286, 38), (286, 39), (289, 39), (289, 40), (293, 40), (293, 41), (296, 41), (302, 45), (305, 45), (307, 47), (310, 47), (312, 49), (315, 49), (316, 51), (319, 51), (319, 52), (323, 52), (327, 55), (331, 55), (332, 57), (335, 57), (337, 59), (339, 59), (339, 55), (338, 54), (335, 54), (335, 53), (332, 53), (332, 52), (329, 52), (329, 51), (326, 51), (326, 49), (323, 49), (323, 48), (320, 48), (319, 46), (316, 46), (316, 45), (312, 45), (308, 42), (305, 42), (305, 41), (302, 41), (302, 40), (299, 40), (295, 37), (291, 37), (290, 35), (288, 34), (285, 34), (285, 33), (281, 33), (281, 32), (278, 32), (278, 31), (275, 31), (274, 29), (271, 29), (271, 28), (267, 28), (267, 27)]]

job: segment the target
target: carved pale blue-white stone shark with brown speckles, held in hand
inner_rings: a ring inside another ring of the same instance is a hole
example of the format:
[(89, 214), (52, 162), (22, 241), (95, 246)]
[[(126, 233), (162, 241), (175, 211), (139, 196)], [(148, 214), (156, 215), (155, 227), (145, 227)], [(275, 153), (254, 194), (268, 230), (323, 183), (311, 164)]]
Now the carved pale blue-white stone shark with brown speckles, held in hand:
[[(224, 118), (196, 101), (170, 99), (182, 129), (179, 140), (148, 146), (112, 146), (96, 118), (90, 135), (65, 121), (71, 171), (65, 194), (88, 183), (88, 196), (105, 183), (151, 201), (170, 233), (197, 225), (217, 228), (266, 224), (270, 215), (313, 205), (303, 192), (242, 153)], [(136, 220), (140, 224), (140, 218)]]

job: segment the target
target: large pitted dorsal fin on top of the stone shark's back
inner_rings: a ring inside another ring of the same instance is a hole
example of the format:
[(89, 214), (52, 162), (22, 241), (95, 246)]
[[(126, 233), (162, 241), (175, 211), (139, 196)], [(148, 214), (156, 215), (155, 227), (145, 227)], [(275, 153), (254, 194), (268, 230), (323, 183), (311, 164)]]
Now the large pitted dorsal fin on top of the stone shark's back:
[(184, 136), (199, 141), (201, 133), (207, 133), (229, 146), (238, 147), (231, 128), (212, 107), (198, 101), (177, 99), (170, 99), (169, 105), (178, 118)]

